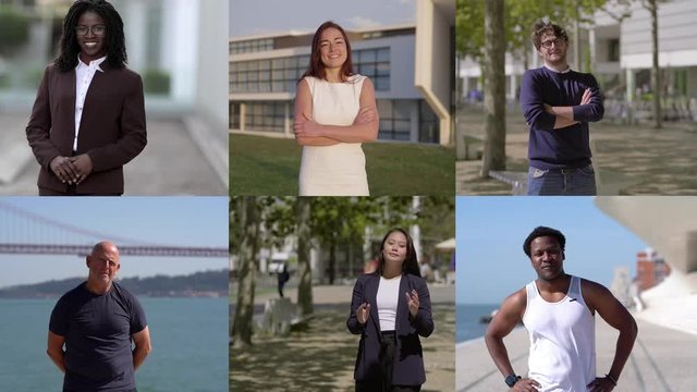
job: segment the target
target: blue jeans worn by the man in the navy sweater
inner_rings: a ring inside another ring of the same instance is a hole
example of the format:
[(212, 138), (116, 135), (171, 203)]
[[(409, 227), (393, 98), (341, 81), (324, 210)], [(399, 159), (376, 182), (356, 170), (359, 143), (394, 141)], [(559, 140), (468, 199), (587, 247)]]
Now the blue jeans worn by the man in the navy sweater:
[(529, 196), (596, 195), (596, 172), (592, 164), (578, 169), (537, 169), (527, 172), (527, 194)]

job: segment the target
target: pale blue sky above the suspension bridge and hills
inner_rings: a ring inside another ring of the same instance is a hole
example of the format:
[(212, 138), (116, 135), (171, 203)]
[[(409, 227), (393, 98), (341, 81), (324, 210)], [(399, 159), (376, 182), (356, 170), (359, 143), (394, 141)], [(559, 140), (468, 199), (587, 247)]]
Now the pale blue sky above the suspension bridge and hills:
[[(105, 240), (117, 236), (163, 245), (228, 247), (228, 197), (3, 197), (0, 203), (102, 233)], [(50, 241), (59, 232), (50, 226), (28, 231), (19, 221), (25, 220), (0, 208), (0, 241), (27, 236)], [(119, 274), (176, 275), (222, 268), (228, 268), (227, 258), (123, 256)], [(0, 255), (0, 287), (86, 275), (85, 260), (77, 256)]]

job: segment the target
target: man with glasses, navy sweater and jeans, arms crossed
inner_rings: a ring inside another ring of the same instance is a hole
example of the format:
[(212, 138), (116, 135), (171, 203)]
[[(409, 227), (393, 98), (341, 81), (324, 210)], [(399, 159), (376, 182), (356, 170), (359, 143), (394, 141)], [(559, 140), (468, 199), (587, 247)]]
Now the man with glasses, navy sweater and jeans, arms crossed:
[(545, 64), (526, 71), (521, 84), (530, 128), (527, 194), (595, 195), (588, 123), (604, 113), (598, 82), (568, 68), (568, 36), (559, 25), (537, 22), (533, 42)]

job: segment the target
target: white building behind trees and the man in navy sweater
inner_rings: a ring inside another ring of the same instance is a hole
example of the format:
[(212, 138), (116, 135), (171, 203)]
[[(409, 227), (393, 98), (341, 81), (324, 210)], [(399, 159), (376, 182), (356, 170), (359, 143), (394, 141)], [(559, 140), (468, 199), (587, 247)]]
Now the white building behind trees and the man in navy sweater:
[[(628, 10), (631, 16), (622, 22), (613, 19)], [(580, 38), (572, 36), (579, 45), (580, 61), (575, 61), (574, 49), (568, 49), (572, 68), (592, 72), (609, 98), (633, 102), (650, 89), (651, 69), (651, 20), (649, 12), (639, 2), (631, 2), (628, 9), (598, 12), (595, 24), (582, 28)], [(673, 0), (659, 3), (659, 65), (662, 69), (663, 93), (673, 98), (697, 97), (697, 29), (692, 25), (697, 20), (697, 8), (690, 0)], [(529, 33), (526, 33), (529, 35)], [(540, 66), (539, 54), (530, 41), (529, 68)], [(519, 79), (525, 72), (521, 59), (506, 54), (506, 96), (517, 98)], [(481, 90), (481, 72), (469, 59), (460, 61), (458, 77), (462, 78), (461, 98), (467, 98), (474, 89)], [(606, 112), (608, 114), (608, 112)], [(611, 114), (611, 113), (610, 113)]]

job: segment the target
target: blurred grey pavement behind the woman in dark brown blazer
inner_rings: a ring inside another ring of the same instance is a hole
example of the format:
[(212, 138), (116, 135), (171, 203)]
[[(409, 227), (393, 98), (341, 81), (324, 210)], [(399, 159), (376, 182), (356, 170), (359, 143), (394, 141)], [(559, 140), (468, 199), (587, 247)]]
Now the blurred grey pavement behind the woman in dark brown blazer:
[[(0, 114), (0, 195), (37, 194), (39, 167), (26, 142), (26, 115)], [(148, 145), (124, 167), (124, 195), (228, 195), (225, 179), (217, 169), (220, 162), (215, 156), (219, 154), (209, 151), (213, 145), (227, 148), (227, 132), (221, 130), (219, 138), (201, 137), (201, 126), (189, 124), (148, 118)], [(208, 139), (208, 145), (196, 138)], [(227, 175), (227, 168), (223, 172)]]

